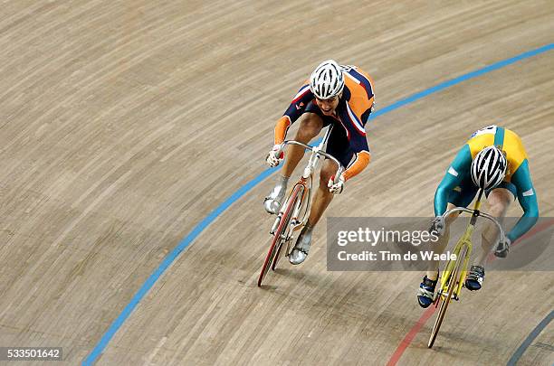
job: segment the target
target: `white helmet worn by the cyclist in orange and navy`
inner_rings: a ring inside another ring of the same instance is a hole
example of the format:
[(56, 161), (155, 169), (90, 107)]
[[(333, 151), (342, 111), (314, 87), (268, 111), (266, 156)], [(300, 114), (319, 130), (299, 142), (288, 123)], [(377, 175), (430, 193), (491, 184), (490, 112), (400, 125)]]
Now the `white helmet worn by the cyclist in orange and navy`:
[(323, 61), (310, 76), (311, 92), (318, 99), (330, 99), (344, 88), (344, 76), (337, 61)]

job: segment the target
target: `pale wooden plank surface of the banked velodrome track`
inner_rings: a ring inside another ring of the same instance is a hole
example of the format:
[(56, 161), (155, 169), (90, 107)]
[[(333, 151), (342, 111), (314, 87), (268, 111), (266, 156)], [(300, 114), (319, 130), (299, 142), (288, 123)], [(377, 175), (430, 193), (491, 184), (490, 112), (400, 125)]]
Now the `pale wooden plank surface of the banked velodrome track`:
[[(326, 271), (324, 222), (304, 264), (255, 285), (272, 177), (118, 317), (266, 169), (274, 122), (318, 62), (367, 70), (378, 110), (553, 34), (549, 0), (3, 2), (0, 346), (62, 346), (72, 365), (506, 364), (554, 308), (552, 272), (488, 273), (428, 350), (434, 318), (413, 331), (422, 274)], [(369, 121), (373, 162), (329, 213), (431, 216), (457, 149), (497, 123), (522, 136), (554, 216), (553, 121), (554, 52), (406, 104)], [(550, 324), (520, 364), (551, 365), (553, 345)]]

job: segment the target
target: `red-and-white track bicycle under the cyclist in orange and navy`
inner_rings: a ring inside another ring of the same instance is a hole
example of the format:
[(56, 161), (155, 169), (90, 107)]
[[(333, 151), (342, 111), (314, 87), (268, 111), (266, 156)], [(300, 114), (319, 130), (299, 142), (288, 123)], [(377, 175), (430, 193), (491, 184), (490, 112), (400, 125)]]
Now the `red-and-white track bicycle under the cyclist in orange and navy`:
[(339, 177), (344, 171), (344, 167), (334, 156), (323, 151), (324, 145), (326, 145), (329, 140), (331, 130), (332, 126), (327, 128), (327, 132), (319, 145), (311, 146), (302, 144), (298, 141), (287, 140), (282, 143), (280, 149), (276, 153), (276, 155), (280, 155), (286, 145), (301, 145), (311, 152), (310, 159), (308, 160), (307, 166), (304, 168), (300, 180), (292, 186), (288, 198), (282, 203), (281, 210), (277, 214), (275, 221), (273, 221), (272, 229), (270, 230), (272, 244), (263, 261), (263, 267), (258, 277), (258, 286), (262, 286), (263, 278), (269, 271), (269, 268), (271, 267), (272, 270), (275, 270), (275, 267), (277, 267), (280, 258), (279, 255), (281, 254), (284, 243), (287, 244), (284, 257), (288, 257), (291, 254), (294, 248), (294, 245), (291, 244), (294, 233), (301, 230), (306, 224), (306, 221), (308, 221), (311, 207), (313, 174), (321, 156), (330, 159), (339, 166), (335, 174), (334, 183), (339, 182)]

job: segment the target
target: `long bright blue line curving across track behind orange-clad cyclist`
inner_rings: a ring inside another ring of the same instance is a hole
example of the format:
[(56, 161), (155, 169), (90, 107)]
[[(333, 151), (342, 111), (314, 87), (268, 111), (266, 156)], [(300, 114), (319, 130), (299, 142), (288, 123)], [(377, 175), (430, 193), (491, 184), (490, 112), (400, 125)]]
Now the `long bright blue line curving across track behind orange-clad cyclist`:
[[(395, 109), (401, 108), (403, 106), (406, 106), (406, 104), (413, 103), (418, 99), (423, 99), (427, 97), (430, 94), (436, 93), (438, 91), (441, 91), (443, 89), (447, 89), (450, 87), (453, 87), (456, 84), (459, 84), (465, 80), (470, 80), (473, 78), (476, 78), (478, 76), (481, 76), (482, 74), (485, 74), (487, 72), (491, 72), (493, 70), (501, 69), (505, 66), (511, 65), (514, 62), (529, 59), (530, 57), (539, 55), (540, 53), (549, 52), (551, 50), (554, 50), (554, 43), (547, 44), (545, 46), (542, 46), (536, 50), (532, 50), (529, 52), (523, 52), (518, 56), (512, 57), (511, 59), (495, 62), (490, 66), (486, 66), (482, 69), (475, 70), (473, 72), (469, 72), (467, 74), (463, 74), (462, 76), (459, 76), (457, 78), (454, 78), (452, 80), (444, 81), (438, 85), (435, 85), (435, 87), (425, 89), (423, 91), (420, 91), (416, 94), (413, 94), (406, 99), (401, 99), (396, 101), (395, 103), (375, 111), (375, 113), (371, 114), (371, 118), (375, 118), (381, 115), (384, 115), (388, 112), (391, 112)], [(243, 187), (241, 187), (238, 191), (234, 192), (229, 198), (225, 200), (222, 204), (217, 206), (214, 211), (211, 211), (209, 215), (205, 217), (204, 220), (200, 221), (196, 225), (196, 227), (188, 234), (186, 235), (186, 238), (181, 240), (181, 242), (177, 245), (175, 249), (173, 249), (169, 254), (167, 254), (167, 257), (164, 258), (162, 263), (159, 265), (159, 267), (152, 273), (146, 282), (140, 286), (139, 291), (133, 296), (133, 298), (130, 300), (129, 304), (125, 306), (121, 314), (113, 321), (112, 324), (110, 324), (110, 327), (104, 333), (102, 338), (100, 339), (100, 342), (96, 344), (92, 352), (87, 356), (87, 358), (82, 361), (82, 365), (88, 366), (93, 364), (99, 357), (100, 354), (104, 351), (108, 343), (110, 343), (111, 338), (115, 335), (115, 333), (118, 332), (119, 328), (123, 323), (127, 320), (129, 315), (135, 310), (137, 305), (139, 305), (140, 300), (154, 286), (156, 281), (158, 281), (158, 278), (161, 277), (164, 272), (166, 271), (167, 267), (169, 267), (173, 261), (177, 258), (177, 256), (184, 250), (186, 247), (188, 247), (195, 239), (202, 233), (202, 231), (205, 230), (212, 222), (215, 221), (215, 219), (222, 214), (225, 210), (227, 210), (234, 202), (236, 202), (239, 198), (243, 197), (246, 192), (249, 192), (253, 187), (255, 187), (258, 183), (261, 183), (265, 178), (273, 174), (275, 171), (277, 171), (279, 168), (272, 168), (272, 169), (266, 169), (261, 174), (256, 176), (252, 181), (249, 183), (246, 183)]]

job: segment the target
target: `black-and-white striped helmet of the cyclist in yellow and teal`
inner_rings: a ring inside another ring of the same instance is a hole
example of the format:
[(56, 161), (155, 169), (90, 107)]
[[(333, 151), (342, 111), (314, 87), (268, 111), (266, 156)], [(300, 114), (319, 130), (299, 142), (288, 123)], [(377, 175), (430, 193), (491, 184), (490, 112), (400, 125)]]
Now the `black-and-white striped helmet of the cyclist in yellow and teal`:
[(501, 149), (496, 146), (482, 149), (472, 162), (473, 183), (483, 190), (496, 187), (506, 175), (506, 165), (506, 157)]

